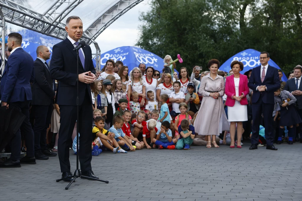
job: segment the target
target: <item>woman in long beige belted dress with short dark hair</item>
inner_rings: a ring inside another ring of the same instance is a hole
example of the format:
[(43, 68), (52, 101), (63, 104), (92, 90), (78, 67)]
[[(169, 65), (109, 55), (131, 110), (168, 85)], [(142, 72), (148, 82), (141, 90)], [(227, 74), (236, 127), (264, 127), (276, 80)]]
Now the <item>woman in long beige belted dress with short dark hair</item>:
[(209, 61), (208, 68), (210, 73), (201, 79), (198, 91), (203, 98), (194, 127), (195, 132), (206, 136), (207, 148), (211, 148), (211, 144), (218, 148), (219, 146), (215, 140), (216, 136), (222, 131), (230, 130), (230, 124), (226, 118), (222, 102), (224, 81), (222, 76), (217, 75), (219, 67), (220, 62), (217, 59)]

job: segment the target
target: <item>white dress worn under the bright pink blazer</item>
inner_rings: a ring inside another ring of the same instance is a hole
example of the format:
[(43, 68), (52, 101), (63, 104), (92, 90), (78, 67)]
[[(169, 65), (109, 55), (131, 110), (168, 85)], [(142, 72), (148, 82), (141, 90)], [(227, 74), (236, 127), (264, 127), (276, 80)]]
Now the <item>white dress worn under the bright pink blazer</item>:
[[(236, 95), (239, 96), (239, 79), (234, 78)], [(241, 105), (239, 101), (235, 101), (233, 107), (227, 107), (228, 121), (247, 121), (247, 105)]]

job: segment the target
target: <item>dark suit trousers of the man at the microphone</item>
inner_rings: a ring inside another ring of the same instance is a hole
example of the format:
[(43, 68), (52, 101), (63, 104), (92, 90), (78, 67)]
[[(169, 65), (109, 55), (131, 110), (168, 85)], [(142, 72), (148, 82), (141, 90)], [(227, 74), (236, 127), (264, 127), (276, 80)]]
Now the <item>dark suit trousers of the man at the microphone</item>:
[[(91, 170), (91, 132), (92, 132), (92, 104), (91, 94), (85, 93), (84, 101), (79, 105), (79, 160), (82, 172)], [(58, 139), (58, 155), (61, 172), (70, 171), (69, 143), (77, 120), (77, 106), (59, 105), (60, 129)]]

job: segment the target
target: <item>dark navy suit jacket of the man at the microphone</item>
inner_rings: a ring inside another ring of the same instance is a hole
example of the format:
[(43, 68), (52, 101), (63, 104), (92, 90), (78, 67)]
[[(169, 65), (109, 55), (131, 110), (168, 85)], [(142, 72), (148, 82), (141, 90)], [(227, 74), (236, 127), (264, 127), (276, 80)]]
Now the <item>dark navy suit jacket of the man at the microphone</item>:
[[(53, 46), (53, 55), (50, 61), (50, 76), (59, 81), (55, 99), (55, 103), (58, 105), (76, 106), (77, 54), (72, 49), (74, 49), (74, 46), (68, 38)], [(88, 71), (95, 74), (90, 46), (85, 45), (82, 49), (85, 54), (85, 69), (83, 69), (83, 65), (79, 59), (79, 74)], [(79, 105), (84, 101), (86, 92), (88, 92), (91, 100), (90, 85), (79, 82)]]

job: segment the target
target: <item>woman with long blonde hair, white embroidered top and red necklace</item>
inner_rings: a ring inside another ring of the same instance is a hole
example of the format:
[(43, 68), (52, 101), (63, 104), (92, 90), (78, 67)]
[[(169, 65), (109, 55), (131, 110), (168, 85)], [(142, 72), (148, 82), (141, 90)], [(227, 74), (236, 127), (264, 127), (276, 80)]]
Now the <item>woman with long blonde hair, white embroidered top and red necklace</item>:
[(128, 90), (131, 90), (131, 93), (132, 91), (136, 91), (138, 93), (140, 107), (142, 107), (144, 105), (145, 98), (146, 98), (146, 83), (142, 78), (142, 72), (140, 71), (139, 68), (137, 67), (133, 68), (130, 74), (130, 80), (131, 80), (131, 89), (129, 88)]

